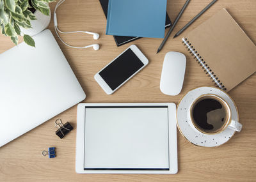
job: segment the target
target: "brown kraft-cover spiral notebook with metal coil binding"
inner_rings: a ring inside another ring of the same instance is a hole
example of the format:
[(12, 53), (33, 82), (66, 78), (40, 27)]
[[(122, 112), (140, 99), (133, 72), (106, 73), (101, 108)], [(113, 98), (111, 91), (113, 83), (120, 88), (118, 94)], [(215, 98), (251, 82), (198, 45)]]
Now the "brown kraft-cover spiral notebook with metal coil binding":
[(227, 10), (182, 38), (216, 86), (230, 91), (256, 71), (256, 46)]

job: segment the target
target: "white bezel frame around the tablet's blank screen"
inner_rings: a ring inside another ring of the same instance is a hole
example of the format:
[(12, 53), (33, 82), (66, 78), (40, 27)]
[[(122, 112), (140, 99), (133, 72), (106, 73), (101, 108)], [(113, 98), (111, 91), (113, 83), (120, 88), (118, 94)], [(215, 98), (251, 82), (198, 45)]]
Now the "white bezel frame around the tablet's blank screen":
[[(154, 170), (84, 170), (84, 114), (86, 106), (167, 106), (169, 132), (169, 163), (167, 171)], [(76, 172), (88, 174), (175, 174), (177, 163), (177, 127), (175, 103), (79, 103), (77, 105)]]

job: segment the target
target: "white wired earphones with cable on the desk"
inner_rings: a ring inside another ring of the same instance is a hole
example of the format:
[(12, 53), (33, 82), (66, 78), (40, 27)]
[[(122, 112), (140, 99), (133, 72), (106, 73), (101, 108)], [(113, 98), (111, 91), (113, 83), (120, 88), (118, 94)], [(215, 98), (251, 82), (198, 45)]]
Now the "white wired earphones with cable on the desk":
[[(57, 14), (56, 14), (56, 10), (57, 8), (60, 6), (60, 4), (64, 3), (65, 0), (60, 0), (57, 4), (56, 4), (56, 7), (54, 9), (54, 14), (53, 14), (53, 21), (54, 21), (54, 29), (55, 29), (55, 32), (58, 36), (58, 38), (60, 38), (60, 35), (59, 35), (59, 32), (60, 33), (63, 33), (63, 34), (69, 34), (69, 33), (86, 33), (86, 34), (92, 34), (93, 35), (93, 39), (94, 40), (98, 40), (100, 35), (98, 33), (93, 33), (93, 32), (90, 32), (90, 31), (69, 31), (69, 32), (63, 32), (63, 31), (60, 31), (60, 29), (58, 29), (58, 21), (57, 21)], [(64, 43), (65, 45), (67, 45), (68, 47), (72, 47), (72, 48), (77, 48), (77, 49), (86, 49), (88, 47), (93, 47), (94, 50), (99, 50), (100, 49), (100, 46), (99, 44), (92, 44), (92, 45), (87, 45), (87, 46), (84, 46), (84, 47), (75, 47), (75, 46), (72, 46), (72, 45), (68, 45), (66, 42), (64, 42), (61, 38), (60, 38), (61, 42)]]

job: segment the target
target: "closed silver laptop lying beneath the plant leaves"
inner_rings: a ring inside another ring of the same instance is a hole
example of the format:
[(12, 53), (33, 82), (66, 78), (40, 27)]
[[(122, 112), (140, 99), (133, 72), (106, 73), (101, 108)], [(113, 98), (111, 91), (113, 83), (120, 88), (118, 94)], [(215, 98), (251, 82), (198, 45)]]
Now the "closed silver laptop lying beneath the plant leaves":
[(51, 31), (33, 39), (0, 54), (0, 147), (86, 98)]

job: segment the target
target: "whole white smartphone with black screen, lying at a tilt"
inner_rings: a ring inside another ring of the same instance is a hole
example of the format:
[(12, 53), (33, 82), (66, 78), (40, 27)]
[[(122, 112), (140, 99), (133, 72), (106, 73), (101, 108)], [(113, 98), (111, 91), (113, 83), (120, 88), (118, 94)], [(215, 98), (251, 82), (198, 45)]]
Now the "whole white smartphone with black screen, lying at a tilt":
[(111, 95), (147, 64), (147, 57), (136, 45), (131, 45), (96, 73), (94, 79), (108, 95)]

